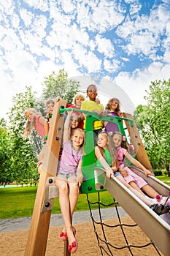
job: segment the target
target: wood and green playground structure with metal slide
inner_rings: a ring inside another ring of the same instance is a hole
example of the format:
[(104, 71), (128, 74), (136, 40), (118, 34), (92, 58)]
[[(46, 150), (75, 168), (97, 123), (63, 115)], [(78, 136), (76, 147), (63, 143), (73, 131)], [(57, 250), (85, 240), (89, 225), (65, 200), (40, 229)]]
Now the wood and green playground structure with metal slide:
[[(45, 255), (47, 236), (50, 225), (50, 215), (53, 208), (53, 198), (58, 197), (58, 188), (55, 187), (55, 176), (58, 167), (58, 155), (61, 148), (63, 135), (63, 113), (72, 110), (66, 108), (66, 101), (61, 99), (55, 103), (53, 110), (52, 125), (47, 140), (45, 158), (43, 159), (43, 171), (39, 177), (39, 186), (36, 192), (36, 200), (34, 204), (34, 212), (31, 221), (31, 227), (28, 234), (28, 242), (26, 246), (25, 256), (43, 256)], [(97, 113), (88, 112), (85, 110), (77, 110), (86, 114), (87, 126), (85, 129), (85, 155), (82, 161), (82, 173), (84, 180), (82, 183), (82, 193), (88, 194), (92, 192), (102, 192), (107, 189), (112, 197), (120, 203), (128, 215), (134, 219), (139, 227), (146, 233), (152, 242), (158, 246), (163, 255), (169, 255), (170, 244), (170, 226), (161, 217), (158, 217), (148, 206), (129, 191), (116, 178), (109, 179), (106, 177), (102, 168), (97, 168), (95, 165), (95, 153), (93, 143), (93, 121), (101, 119), (102, 121), (111, 121), (117, 124), (120, 132), (125, 135), (123, 121), (128, 129), (128, 135), (131, 138), (131, 143), (136, 151), (136, 158), (147, 169), (152, 170), (150, 161), (139, 132), (136, 129), (132, 116), (125, 113), (123, 118), (113, 116), (98, 116)], [(146, 179), (144, 173), (138, 168), (131, 168)], [(155, 177), (147, 178), (147, 183), (154, 187), (161, 195), (169, 196), (170, 188), (163, 182), (158, 181)], [(128, 203), (127, 203), (128, 202)], [(67, 251), (67, 243), (64, 243), (63, 255), (69, 256)]]

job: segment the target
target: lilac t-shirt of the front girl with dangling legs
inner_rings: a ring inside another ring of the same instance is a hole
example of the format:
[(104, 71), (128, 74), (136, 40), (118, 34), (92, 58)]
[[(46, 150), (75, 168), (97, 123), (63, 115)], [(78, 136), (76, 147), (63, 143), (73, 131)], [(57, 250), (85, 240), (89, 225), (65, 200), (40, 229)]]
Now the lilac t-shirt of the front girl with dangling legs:
[(79, 162), (82, 161), (82, 150), (74, 151), (72, 141), (63, 143), (63, 152), (59, 162), (58, 173), (76, 173)]

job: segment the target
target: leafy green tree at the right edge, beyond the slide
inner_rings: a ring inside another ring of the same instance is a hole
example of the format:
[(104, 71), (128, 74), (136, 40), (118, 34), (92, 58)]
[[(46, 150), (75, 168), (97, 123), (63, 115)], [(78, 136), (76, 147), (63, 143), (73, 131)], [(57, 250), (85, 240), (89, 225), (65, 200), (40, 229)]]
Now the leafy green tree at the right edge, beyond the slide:
[(170, 165), (170, 79), (151, 82), (146, 91), (147, 106), (139, 105), (134, 113), (136, 125), (142, 131), (144, 146), (153, 168), (166, 168)]

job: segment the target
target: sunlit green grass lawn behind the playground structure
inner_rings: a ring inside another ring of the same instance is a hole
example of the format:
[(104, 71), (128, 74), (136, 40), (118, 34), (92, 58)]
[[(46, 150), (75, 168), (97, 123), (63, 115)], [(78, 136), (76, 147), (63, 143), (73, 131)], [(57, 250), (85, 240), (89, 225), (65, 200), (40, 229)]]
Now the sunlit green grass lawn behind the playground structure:
[[(170, 185), (170, 177), (165, 175), (157, 176), (158, 179)], [(5, 187), (0, 189), (1, 211), (0, 219), (11, 219), (32, 216), (37, 187)], [(98, 193), (89, 194), (90, 202), (98, 201)], [(100, 193), (101, 202), (109, 205), (113, 202), (109, 192)], [(91, 205), (91, 208), (98, 208), (98, 204)], [(103, 206), (101, 206), (103, 208)], [(76, 211), (88, 211), (88, 201), (85, 194), (80, 194)], [(61, 213), (58, 198), (55, 198), (52, 214)]]

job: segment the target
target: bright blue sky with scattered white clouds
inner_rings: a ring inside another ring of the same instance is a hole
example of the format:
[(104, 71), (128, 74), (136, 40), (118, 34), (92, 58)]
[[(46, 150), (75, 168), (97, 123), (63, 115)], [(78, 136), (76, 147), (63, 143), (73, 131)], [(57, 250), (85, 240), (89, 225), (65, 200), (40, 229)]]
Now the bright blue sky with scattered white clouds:
[(0, 0), (0, 118), (13, 96), (26, 86), (40, 96), (63, 68), (84, 87), (97, 78), (107, 97), (120, 89), (134, 108), (146, 104), (151, 81), (170, 78), (169, 10), (170, 0)]

